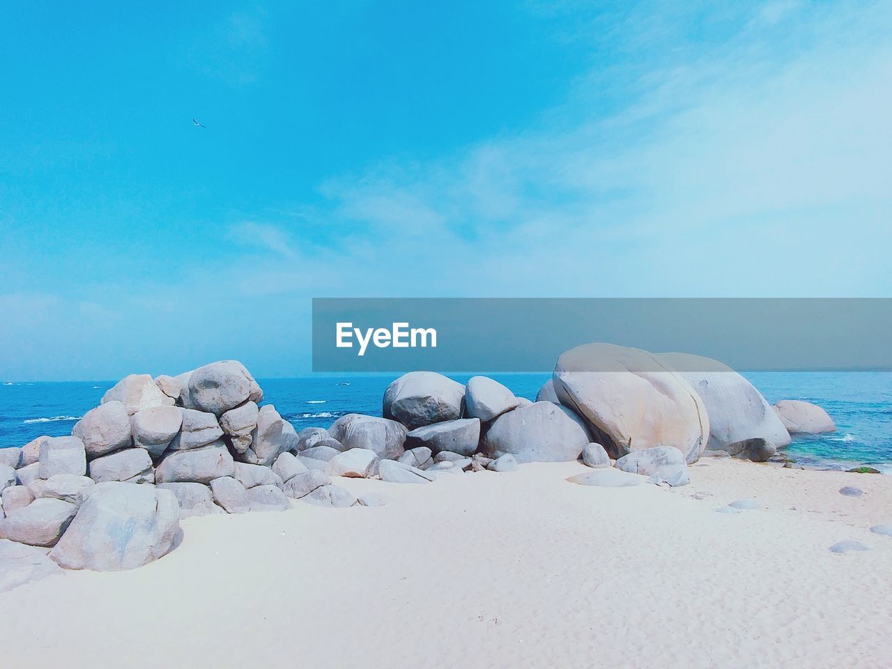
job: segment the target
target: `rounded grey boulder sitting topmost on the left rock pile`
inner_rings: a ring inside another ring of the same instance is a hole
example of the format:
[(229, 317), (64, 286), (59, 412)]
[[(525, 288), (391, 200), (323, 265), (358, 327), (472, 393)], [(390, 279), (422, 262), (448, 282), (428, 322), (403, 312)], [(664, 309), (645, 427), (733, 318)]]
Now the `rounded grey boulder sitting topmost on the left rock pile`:
[(246, 401), (263, 399), (260, 386), (241, 362), (220, 360), (197, 368), (186, 385), (185, 406), (221, 416)]

